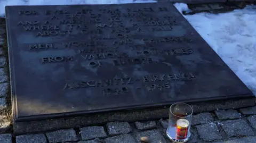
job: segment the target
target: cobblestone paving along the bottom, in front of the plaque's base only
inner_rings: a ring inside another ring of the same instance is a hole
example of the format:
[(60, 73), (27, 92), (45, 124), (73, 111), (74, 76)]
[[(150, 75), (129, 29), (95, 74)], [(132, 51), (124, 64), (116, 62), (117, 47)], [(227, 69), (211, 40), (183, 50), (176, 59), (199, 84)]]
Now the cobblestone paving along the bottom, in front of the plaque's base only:
[[(144, 122), (108, 122), (90, 127), (62, 129), (35, 134), (0, 134), (3, 143), (135, 143), (148, 137), (151, 143), (170, 142), (165, 137), (166, 119)], [(255, 143), (256, 106), (199, 113), (193, 116), (188, 143)]]

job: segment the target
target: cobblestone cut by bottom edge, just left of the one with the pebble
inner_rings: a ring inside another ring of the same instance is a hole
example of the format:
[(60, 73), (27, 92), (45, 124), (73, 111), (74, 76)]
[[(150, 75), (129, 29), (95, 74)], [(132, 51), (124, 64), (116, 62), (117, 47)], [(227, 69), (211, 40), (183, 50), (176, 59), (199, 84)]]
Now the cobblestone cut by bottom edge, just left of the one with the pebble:
[(119, 136), (106, 138), (106, 143), (136, 143), (130, 134), (121, 134)]

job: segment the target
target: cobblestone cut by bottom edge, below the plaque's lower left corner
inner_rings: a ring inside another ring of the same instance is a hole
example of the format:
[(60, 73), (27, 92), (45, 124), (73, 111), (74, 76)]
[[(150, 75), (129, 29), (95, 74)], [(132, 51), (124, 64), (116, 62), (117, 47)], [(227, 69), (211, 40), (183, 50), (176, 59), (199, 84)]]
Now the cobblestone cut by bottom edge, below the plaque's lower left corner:
[(17, 143), (28, 143), (28, 142), (46, 143), (47, 140), (44, 134), (26, 134), (26, 135), (17, 136), (16, 142)]

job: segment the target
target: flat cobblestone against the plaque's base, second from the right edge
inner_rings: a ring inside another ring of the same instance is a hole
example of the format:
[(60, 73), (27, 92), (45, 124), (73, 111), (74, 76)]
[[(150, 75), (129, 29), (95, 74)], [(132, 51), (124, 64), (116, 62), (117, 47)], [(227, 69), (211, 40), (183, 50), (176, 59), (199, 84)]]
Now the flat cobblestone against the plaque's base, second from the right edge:
[(238, 113), (236, 110), (219, 110), (215, 111), (219, 120), (227, 120), (227, 119), (239, 119), (241, 114)]

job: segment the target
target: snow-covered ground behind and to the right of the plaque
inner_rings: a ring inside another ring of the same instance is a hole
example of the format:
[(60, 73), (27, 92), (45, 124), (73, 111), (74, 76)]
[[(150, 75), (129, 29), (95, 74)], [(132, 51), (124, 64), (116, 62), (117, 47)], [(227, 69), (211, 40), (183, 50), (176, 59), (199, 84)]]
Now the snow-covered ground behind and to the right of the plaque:
[[(0, 15), (4, 14), (5, 5), (114, 3), (133, 3), (133, 0), (0, 0)], [(179, 11), (188, 11), (186, 4), (175, 6)], [(197, 13), (185, 18), (256, 95), (256, 6), (222, 14)]]

